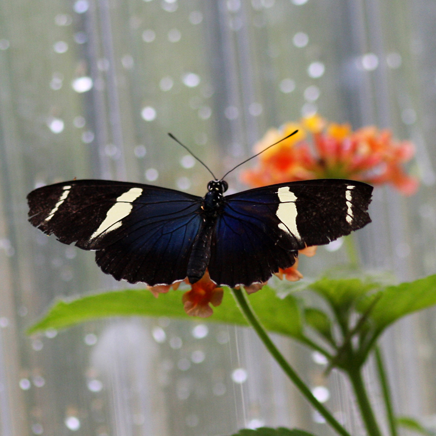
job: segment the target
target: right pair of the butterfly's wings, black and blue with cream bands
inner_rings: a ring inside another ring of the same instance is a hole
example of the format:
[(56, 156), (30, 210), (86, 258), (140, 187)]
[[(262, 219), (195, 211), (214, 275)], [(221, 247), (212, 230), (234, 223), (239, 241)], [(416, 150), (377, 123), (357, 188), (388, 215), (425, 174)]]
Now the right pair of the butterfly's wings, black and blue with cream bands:
[(347, 180), (271, 185), (226, 196), (212, 237), (209, 274), (219, 284), (265, 282), (298, 250), (368, 224), (372, 187)]

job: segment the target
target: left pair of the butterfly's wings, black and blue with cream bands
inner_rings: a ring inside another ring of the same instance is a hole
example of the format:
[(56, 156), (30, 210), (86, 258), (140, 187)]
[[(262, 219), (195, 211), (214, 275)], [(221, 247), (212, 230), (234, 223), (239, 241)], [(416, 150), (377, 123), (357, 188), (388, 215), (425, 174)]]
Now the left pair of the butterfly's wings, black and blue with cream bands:
[(202, 218), (201, 197), (126, 182), (80, 180), (28, 195), (29, 221), (64, 244), (97, 250), (117, 280), (148, 285), (186, 278)]

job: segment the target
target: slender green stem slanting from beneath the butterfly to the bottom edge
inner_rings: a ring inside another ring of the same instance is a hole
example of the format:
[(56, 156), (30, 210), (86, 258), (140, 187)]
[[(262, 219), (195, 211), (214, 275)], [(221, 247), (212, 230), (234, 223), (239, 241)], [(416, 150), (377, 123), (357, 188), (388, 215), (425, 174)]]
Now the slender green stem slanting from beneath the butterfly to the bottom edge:
[(247, 319), (248, 323), (254, 328), (257, 335), (264, 343), (265, 347), (271, 353), (272, 357), (275, 361), (281, 366), (281, 368), (285, 371), (286, 375), (291, 379), (291, 381), (295, 384), (295, 386), (300, 390), (300, 392), (304, 395), (306, 400), (320, 412), (320, 414), (324, 417), (324, 419), (342, 436), (350, 436), (350, 434), (345, 430), (345, 428), (333, 418), (333, 415), (313, 396), (310, 389), (306, 386), (303, 380), (299, 377), (299, 375), (295, 372), (295, 370), (289, 365), (289, 363), (285, 360), (281, 352), (274, 345), (274, 343), (269, 338), (265, 329), (262, 327), (259, 320), (257, 320), (256, 315), (250, 307), (249, 302), (245, 298), (243, 291), (241, 289), (232, 289), (234, 298), (236, 302), (239, 304), (239, 307)]

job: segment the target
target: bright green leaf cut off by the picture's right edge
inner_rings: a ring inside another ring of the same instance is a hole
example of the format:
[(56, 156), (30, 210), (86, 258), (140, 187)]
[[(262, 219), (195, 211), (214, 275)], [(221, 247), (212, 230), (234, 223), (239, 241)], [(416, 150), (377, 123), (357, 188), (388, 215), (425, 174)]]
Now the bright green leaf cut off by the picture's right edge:
[[(369, 316), (375, 324), (376, 332), (380, 333), (403, 316), (436, 304), (436, 275), (388, 286), (375, 295), (379, 297), (379, 301), (375, 303)], [(364, 305), (369, 304), (370, 299), (367, 299)], [(360, 309), (363, 310), (364, 307)]]

